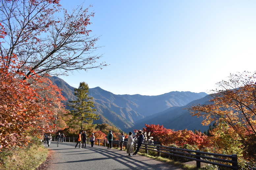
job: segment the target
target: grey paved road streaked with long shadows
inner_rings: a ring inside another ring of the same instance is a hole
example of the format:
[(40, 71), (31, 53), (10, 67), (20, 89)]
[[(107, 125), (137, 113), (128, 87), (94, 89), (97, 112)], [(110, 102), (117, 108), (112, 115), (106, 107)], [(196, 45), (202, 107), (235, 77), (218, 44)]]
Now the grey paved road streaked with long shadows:
[(72, 142), (61, 142), (59, 147), (52, 141), (49, 149), (53, 151), (53, 159), (48, 170), (182, 170), (167, 163), (140, 155), (128, 157), (126, 151), (107, 149), (107, 147), (87, 144), (86, 148), (75, 149)]

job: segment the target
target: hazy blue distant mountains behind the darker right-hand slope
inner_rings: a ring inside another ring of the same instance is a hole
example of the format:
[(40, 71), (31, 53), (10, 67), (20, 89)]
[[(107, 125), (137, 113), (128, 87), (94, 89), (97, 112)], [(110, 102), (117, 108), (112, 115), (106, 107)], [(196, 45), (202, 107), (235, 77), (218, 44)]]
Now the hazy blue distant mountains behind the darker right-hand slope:
[[(72, 86), (56, 76), (48, 78), (62, 89), (63, 96), (67, 98), (68, 101), (76, 100), (76, 96), (73, 95), (74, 88)], [(138, 125), (137, 122), (143, 122), (143, 120), (148, 122), (148, 119), (151, 116), (156, 116), (156, 114), (161, 115), (168, 112), (167, 115), (169, 116), (167, 117), (173, 117), (175, 114), (169, 114), (169, 110), (174, 110), (176, 108), (179, 110), (179, 108), (185, 106), (189, 102), (207, 96), (204, 92), (193, 93), (177, 91), (158, 96), (143, 96), (138, 94), (115, 95), (100, 87), (89, 89), (89, 93), (89, 95), (94, 98), (95, 108), (97, 109), (96, 113), (99, 114), (100, 117), (100, 119), (94, 121), (94, 123), (107, 123), (124, 131), (131, 128), (138, 129), (134, 126)], [(67, 101), (64, 101), (64, 104), (67, 104)], [(159, 119), (157, 122), (161, 125), (163, 124), (161, 122), (164, 122), (163, 125), (165, 127), (165, 124), (168, 123), (166, 120), (167, 118), (162, 121)], [(144, 125), (145, 123), (142, 123), (142, 126)]]

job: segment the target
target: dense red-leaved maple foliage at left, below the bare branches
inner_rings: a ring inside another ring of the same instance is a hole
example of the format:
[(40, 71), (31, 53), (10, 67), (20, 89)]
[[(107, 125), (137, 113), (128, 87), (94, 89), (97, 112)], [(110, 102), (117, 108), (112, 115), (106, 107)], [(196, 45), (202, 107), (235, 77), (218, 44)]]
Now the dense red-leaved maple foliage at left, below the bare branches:
[[(0, 38), (5, 38), (0, 28)], [(0, 42), (2, 43), (2, 42)], [(7, 64), (9, 63), (9, 64)], [(53, 110), (63, 105), (60, 89), (30, 70), (34, 77), (19, 72), (23, 65), (17, 56), (0, 56), (0, 149), (24, 147), (31, 136), (52, 131)], [(26, 79), (20, 78), (26, 77)]]

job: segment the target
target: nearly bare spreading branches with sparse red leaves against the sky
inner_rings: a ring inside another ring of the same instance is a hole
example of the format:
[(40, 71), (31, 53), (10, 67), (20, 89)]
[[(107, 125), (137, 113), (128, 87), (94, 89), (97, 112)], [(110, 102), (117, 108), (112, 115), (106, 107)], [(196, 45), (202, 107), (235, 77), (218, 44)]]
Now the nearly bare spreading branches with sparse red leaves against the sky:
[[(93, 55), (98, 37), (90, 36), (89, 8), (73, 11), (61, 8), (59, 0), (2, 0), (0, 23), (6, 37), (1, 43), (2, 56), (16, 54), (22, 62), (16, 71), (22, 78), (36, 74), (68, 75), (73, 71), (102, 68), (101, 55)], [(5, 65), (11, 64), (7, 58)], [(32, 71), (33, 70), (33, 71)]]

